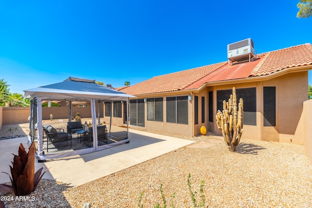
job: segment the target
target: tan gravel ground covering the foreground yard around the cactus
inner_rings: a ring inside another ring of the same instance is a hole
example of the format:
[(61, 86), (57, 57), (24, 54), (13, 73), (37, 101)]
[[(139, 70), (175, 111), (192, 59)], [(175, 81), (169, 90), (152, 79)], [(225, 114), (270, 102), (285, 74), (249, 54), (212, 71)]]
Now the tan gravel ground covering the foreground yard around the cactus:
[[(82, 208), (89, 202), (92, 208), (135, 208), (143, 193), (140, 205), (144, 208), (157, 203), (164, 207), (159, 190), (162, 184), (168, 207), (173, 201), (176, 208), (191, 208), (190, 173), (197, 205), (202, 202), (200, 183), (204, 181), (203, 207), (312, 207), (312, 166), (303, 146), (242, 139), (237, 151), (230, 152), (224, 142), (203, 145), (219, 139), (214, 135), (183, 138), (195, 140), (200, 148), (190, 145), (75, 188), (41, 180), (38, 189), (29, 195), (34, 200), (14, 199), (5, 206)], [(0, 192), (0, 197), (4, 196), (14, 195)]]

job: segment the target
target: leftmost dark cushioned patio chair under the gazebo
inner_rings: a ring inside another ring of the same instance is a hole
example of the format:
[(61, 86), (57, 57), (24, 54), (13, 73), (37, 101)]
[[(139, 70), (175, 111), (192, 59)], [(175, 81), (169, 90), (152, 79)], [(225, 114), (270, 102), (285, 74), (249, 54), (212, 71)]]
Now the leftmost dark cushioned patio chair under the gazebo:
[(64, 132), (64, 129), (55, 129), (49, 124), (45, 124), (42, 128), (47, 136), (47, 152), (49, 151), (49, 144), (51, 145), (60, 142), (67, 142), (67, 145), (69, 145), (68, 141), (70, 141), (70, 147), (72, 148), (72, 135)]

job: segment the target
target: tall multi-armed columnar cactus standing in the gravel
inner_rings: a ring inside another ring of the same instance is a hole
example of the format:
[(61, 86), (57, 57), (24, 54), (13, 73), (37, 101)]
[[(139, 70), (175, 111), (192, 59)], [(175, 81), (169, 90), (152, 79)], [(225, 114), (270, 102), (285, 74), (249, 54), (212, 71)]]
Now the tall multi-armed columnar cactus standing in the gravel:
[[(238, 108), (238, 112), (237, 112)], [(221, 130), (225, 143), (230, 151), (236, 151), (243, 130), (243, 99), (239, 99), (237, 107), (236, 90), (233, 88), (233, 94), (230, 95), (228, 102), (223, 100), (223, 111), (215, 115), (216, 125)]]

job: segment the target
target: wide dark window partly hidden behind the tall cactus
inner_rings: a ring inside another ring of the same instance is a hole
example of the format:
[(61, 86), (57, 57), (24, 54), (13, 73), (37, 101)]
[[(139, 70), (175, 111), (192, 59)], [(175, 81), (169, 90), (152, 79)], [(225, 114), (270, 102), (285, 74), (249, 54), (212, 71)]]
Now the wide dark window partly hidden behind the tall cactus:
[[(220, 90), (216, 92), (217, 110), (223, 110), (223, 100), (229, 101), (232, 90)], [(236, 89), (237, 107), (239, 98), (244, 101), (244, 124), (256, 125), (256, 88)], [(216, 112), (215, 112), (216, 113)]]

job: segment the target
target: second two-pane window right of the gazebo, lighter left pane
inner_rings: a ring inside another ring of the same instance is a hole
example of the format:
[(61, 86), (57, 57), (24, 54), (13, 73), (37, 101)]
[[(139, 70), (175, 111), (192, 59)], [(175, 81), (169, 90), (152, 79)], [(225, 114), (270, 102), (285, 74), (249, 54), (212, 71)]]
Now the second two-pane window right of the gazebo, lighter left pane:
[(148, 98), (147, 99), (147, 120), (148, 121), (163, 121), (163, 98)]

